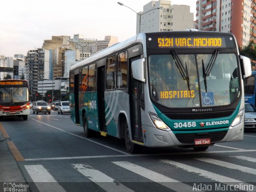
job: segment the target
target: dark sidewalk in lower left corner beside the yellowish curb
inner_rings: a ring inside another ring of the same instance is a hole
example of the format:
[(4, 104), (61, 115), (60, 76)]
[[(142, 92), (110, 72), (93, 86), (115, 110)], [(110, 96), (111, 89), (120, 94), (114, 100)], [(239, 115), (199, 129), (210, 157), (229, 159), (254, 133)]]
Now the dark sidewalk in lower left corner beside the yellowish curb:
[[(1, 142), (2, 141), (2, 142)], [(8, 148), (7, 141), (0, 131), (0, 191), (2, 182), (26, 182), (18, 163)]]

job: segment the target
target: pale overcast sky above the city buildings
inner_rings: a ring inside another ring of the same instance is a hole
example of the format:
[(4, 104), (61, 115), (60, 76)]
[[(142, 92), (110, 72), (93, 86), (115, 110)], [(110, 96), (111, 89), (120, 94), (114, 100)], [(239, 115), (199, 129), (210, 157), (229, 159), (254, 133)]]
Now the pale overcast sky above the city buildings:
[[(124, 41), (136, 35), (135, 12), (151, 0), (3, 0), (0, 11), (0, 55), (26, 55), (41, 48), (52, 36), (82, 34), (84, 38), (103, 40), (106, 35)], [(196, 0), (171, 0), (171, 4), (189, 5), (196, 13)]]

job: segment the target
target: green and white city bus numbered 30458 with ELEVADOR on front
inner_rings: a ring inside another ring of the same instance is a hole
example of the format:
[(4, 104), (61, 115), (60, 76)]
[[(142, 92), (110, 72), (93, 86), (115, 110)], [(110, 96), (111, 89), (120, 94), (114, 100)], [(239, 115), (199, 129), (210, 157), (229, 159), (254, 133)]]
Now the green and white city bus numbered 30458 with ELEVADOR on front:
[(71, 119), (146, 147), (238, 141), (244, 134), (243, 79), (250, 59), (234, 35), (209, 31), (140, 33), (70, 68)]

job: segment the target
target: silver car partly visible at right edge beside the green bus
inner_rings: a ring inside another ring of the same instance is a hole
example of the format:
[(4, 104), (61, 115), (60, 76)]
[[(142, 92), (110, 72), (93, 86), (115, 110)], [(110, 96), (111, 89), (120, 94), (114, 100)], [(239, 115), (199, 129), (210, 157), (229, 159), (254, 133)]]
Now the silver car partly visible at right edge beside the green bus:
[(256, 129), (256, 108), (249, 103), (244, 104), (244, 129)]

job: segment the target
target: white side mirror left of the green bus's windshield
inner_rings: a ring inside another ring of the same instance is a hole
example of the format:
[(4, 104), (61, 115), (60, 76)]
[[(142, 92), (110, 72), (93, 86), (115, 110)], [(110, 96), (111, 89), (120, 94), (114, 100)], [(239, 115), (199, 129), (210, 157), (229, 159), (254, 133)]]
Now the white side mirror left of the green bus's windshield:
[(144, 77), (145, 58), (132, 61), (132, 77), (140, 82), (146, 82)]

